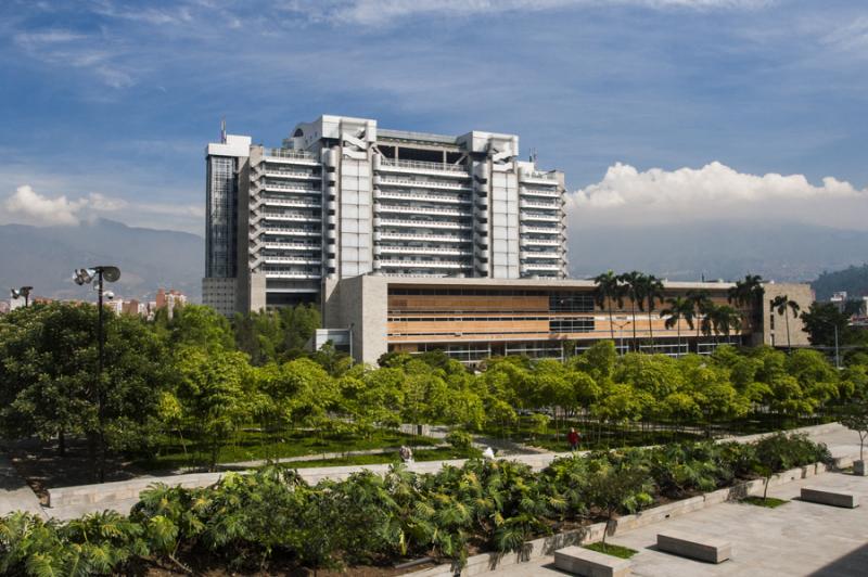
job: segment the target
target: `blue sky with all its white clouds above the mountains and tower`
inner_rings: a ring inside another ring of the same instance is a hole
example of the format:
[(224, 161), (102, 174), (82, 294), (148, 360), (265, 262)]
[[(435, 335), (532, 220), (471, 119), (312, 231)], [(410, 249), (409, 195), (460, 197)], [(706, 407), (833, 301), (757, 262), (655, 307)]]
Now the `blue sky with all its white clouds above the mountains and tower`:
[(868, 228), (865, 0), (4, 0), (0, 33), (0, 222), (201, 233), (222, 116), (327, 113), (518, 133), (579, 225)]

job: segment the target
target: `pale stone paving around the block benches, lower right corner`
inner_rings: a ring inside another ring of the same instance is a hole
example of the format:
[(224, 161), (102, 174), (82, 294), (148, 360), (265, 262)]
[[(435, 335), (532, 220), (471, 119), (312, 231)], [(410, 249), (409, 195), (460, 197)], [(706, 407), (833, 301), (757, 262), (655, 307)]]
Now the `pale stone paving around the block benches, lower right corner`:
[[(807, 485), (855, 492), (864, 504), (839, 509), (795, 499)], [(781, 485), (769, 495), (791, 501), (777, 509), (724, 502), (615, 535), (608, 541), (639, 551), (633, 557), (633, 575), (639, 576), (868, 575), (868, 477), (828, 473)], [(732, 543), (732, 559), (711, 565), (658, 551), (656, 535), (665, 530), (726, 539)], [(553, 560), (547, 556), (493, 575), (565, 575), (554, 568)]]

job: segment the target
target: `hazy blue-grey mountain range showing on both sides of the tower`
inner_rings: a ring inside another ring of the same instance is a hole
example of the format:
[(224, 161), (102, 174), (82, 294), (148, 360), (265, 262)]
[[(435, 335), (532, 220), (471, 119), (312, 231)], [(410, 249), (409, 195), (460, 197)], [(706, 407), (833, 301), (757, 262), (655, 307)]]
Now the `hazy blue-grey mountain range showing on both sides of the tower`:
[[(567, 233), (570, 272), (576, 279), (613, 269), (669, 280), (737, 279), (751, 272), (778, 282), (810, 281), (868, 259), (868, 232), (802, 223), (573, 225)], [(112, 290), (119, 296), (152, 299), (163, 286), (199, 302), (204, 256), (202, 236), (107, 219), (66, 227), (3, 225), (0, 288), (33, 285), (39, 296), (91, 299), (87, 288), (73, 284), (73, 269), (116, 265), (122, 277)]]

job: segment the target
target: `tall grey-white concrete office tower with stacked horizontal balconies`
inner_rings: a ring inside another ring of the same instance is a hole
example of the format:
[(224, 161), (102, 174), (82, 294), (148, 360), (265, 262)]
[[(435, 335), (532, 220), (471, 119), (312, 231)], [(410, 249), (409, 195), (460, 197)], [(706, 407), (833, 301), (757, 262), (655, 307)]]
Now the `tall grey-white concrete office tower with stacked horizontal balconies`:
[[(212, 151), (221, 144), (208, 146), (209, 203), (212, 164), (235, 159), (237, 254), (220, 277), (237, 279), (234, 310), (321, 300), (340, 279), (361, 274), (566, 275), (563, 174), (519, 161), (516, 136), (426, 134), (322, 116), (297, 125), (280, 149)], [(210, 208), (208, 218), (203, 298), (225, 304), (228, 283), (213, 281), (210, 267), (224, 261), (222, 239), (210, 238), (224, 221), (212, 225)]]

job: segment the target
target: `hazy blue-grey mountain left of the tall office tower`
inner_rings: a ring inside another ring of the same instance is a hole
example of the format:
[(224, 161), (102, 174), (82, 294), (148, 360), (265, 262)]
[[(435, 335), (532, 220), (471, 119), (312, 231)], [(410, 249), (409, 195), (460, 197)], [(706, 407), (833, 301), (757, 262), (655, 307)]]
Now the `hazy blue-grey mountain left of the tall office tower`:
[[(120, 281), (112, 290), (125, 297), (175, 287), (193, 300), (202, 293), (205, 241), (195, 234), (139, 229), (113, 220), (77, 227), (0, 226), (0, 290), (33, 285), (34, 293), (58, 298), (90, 298), (73, 284), (73, 269), (117, 265)], [(9, 298), (4, 293), (2, 298)]]

